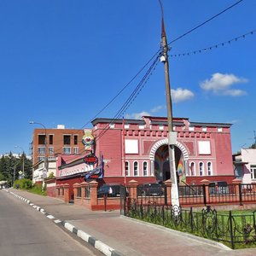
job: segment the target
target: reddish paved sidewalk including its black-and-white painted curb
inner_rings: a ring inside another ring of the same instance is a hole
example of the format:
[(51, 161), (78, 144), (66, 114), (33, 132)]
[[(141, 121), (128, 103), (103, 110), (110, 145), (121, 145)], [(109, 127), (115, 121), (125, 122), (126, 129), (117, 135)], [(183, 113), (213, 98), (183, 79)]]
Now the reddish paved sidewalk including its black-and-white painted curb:
[(59, 199), (6, 190), (105, 255), (256, 255), (256, 248), (233, 251), (215, 241), (125, 218), (119, 211), (92, 212)]

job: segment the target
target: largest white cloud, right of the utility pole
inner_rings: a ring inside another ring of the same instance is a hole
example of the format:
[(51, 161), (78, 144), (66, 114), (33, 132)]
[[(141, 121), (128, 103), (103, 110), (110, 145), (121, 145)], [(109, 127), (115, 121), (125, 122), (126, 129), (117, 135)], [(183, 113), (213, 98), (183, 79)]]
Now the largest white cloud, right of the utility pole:
[(247, 83), (247, 79), (238, 78), (232, 73), (213, 73), (211, 79), (207, 79), (201, 83), (201, 89), (212, 91), (217, 95), (242, 96), (247, 94), (246, 91), (230, 88), (234, 84), (244, 83)]

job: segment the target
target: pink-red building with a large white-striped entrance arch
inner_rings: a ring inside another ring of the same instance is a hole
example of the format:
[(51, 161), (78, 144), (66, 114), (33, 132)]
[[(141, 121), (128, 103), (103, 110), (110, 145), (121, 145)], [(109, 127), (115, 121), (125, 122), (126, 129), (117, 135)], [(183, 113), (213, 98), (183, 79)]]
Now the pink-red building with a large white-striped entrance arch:
[[(86, 176), (102, 168), (99, 183), (164, 182), (170, 178), (168, 125), (162, 117), (142, 119), (94, 119), (93, 153), (99, 160), (94, 165), (79, 159), (59, 161), (57, 183), (80, 183), (95, 177)], [(192, 122), (173, 119), (177, 132), (175, 164), (179, 184), (200, 184), (202, 179), (234, 179), (230, 124)], [(87, 178), (86, 178), (87, 177)]]

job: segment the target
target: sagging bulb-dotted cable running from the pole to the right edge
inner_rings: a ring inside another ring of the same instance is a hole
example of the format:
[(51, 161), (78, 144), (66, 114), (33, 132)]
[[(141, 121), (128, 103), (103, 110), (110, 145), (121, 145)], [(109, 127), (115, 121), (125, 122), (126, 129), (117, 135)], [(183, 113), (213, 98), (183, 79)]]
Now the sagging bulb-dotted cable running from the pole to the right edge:
[(228, 41), (222, 42), (220, 44), (214, 44), (214, 45), (209, 46), (207, 48), (196, 49), (196, 50), (192, 50), (192, 51), (189, 51), (189, 52), (186, 52), (186, 53), (172, 54), (172, 55), (170, 55), (170, 57), (181, 57), (181, 56), (186, 56), (186, 55), (195, 55), (195, 54), (198, 54), (198, 53), (206, 52), (208, 50), (217, 49), (219, 46), (224, 46), (224, 45), (227, 45), (227, 44), (230, 45), (231, 43), (237, 42), (239, 39), (246, 38), (248, 35), (253, 35), (253, 33), (255, 33), (255, 32), (256, 32), (256, 30), (253, 30), (253, 31), (247, 32), (246, 34), (243, 34), (239, 37), (232, 38)]

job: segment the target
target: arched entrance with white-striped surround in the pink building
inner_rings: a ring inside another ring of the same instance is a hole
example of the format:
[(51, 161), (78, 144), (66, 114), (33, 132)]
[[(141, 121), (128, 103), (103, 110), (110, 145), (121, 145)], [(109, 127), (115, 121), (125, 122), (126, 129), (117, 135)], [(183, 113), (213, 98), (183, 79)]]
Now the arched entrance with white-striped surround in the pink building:
[[(175, 155), (175, 167), (177, 170), (177, 182), (182, 179), (185, 180), (188, 169), (189, 154), (182, 143), (178, 143), (174, 146)], [(169, 152), (168, 152), (168, 140), (161, 140), (154, 144), (150, 152), (152, 175), (156, 177), (159, 182), (166, 181), (170, 176), (169, 165)]]

